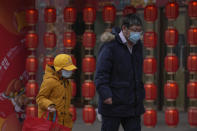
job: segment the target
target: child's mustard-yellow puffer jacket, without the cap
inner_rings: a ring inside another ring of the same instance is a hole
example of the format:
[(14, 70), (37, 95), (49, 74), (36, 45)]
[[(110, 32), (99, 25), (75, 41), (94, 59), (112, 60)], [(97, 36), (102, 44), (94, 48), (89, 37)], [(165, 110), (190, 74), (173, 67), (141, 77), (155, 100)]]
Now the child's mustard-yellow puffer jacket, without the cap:
[(43, 82), (36, 97), (38, 117), (47, 111), (49, 105), (55, 104), (58, 112), (58, 123), (72, 128), (72, 116), (69, 112), (71, 94), (70, 81), (62, 79), (54, 68), (46, 66)]

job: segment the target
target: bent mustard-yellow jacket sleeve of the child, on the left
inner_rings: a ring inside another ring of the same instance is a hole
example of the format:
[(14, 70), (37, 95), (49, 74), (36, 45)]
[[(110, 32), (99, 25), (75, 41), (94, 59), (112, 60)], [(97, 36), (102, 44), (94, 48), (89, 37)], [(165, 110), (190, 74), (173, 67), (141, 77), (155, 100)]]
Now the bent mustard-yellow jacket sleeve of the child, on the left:
[(36, 97), (36, 102), (38, 106), (44, 110), (46, 110), (49, 105), (54, 104), (51, 100), (48, 99), (53, 89), (53, 86), (54, 84), (51, 83), (50, 80), (44, 80)]

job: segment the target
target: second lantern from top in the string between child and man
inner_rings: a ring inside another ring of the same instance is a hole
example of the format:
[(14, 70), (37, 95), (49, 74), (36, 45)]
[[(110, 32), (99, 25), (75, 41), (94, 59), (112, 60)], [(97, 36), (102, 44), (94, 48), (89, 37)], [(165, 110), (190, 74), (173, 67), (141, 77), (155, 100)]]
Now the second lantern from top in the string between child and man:
[(96, 43), (96, 34), (94, 32), (85, 32), (83, 34), (83, 46), (85, 48), (94, 48)]

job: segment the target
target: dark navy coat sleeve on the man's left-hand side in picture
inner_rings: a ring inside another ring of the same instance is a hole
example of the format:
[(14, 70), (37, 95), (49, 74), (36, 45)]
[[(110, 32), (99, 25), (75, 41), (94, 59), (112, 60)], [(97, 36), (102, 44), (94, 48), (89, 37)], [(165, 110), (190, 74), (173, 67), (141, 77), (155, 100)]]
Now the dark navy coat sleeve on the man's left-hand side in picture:
[(112, 52), (109, 47), (104, 46), (98, 55), (95, 74), (96, 89), (103, 101), (112, 97), (112, 92), (109, 87), (111, 70)]

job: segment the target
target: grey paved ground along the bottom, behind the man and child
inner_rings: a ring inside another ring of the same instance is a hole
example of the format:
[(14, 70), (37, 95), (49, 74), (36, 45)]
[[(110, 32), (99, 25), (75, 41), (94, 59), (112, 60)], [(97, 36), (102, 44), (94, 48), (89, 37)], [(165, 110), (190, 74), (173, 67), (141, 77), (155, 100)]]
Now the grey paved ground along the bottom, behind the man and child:
[[(143, 126), (142, 120), (142, 131), (197, 131), (197, 128), (190, 128), (187, 122), (187, 113), (181, 112), (179, 114), (179, 125), (177, 128), (170, 128), (165, 125), (164, 112), (158, 112), (158, 121), (155, 128), (146, 128)], [(82, 109), (77, 109), (77, 120), (74, 124), (73, 131), (100, 131), (101, 123), (96, 120), (93, 125), (86, 125), (82, 119)], [(123, 131), (120, 128), (119, 131)]]

